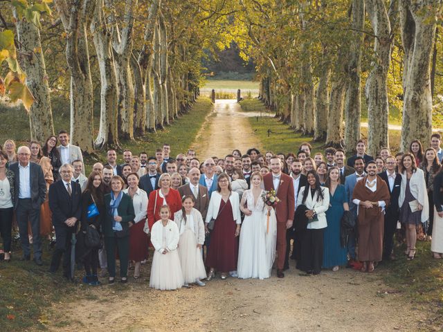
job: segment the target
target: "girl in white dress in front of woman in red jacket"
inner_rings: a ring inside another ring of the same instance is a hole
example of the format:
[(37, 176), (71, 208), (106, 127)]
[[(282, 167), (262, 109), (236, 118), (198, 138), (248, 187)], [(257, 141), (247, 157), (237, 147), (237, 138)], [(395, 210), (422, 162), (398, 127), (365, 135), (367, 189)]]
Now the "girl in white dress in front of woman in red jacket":
[(152, 225), (151, 242), (155, 248), (152, 258), (150, 287), (172, 290), (183, 286), (183, 273), (181, 272), (177, 244), (179, 243), (179, 228), (170, 220), (170, 208), (163, 205), (160, 208), (161, 220)]

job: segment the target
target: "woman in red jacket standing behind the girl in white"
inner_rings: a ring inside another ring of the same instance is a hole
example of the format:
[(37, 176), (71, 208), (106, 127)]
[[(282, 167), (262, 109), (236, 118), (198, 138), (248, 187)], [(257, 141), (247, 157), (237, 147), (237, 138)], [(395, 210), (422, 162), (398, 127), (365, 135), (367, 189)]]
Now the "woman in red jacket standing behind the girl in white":
[(158, 190), (150, 193), (149, 203), (147, 203), (147, 223), (152, 229), (152, 225), (160, 220), (160, 208), (168, 205), (173, 216), (175, 212), (181, 210), (181, 198), (178, 190), (171, 187), (171, 176), (168, 173), (161, 174), (159, 178)]

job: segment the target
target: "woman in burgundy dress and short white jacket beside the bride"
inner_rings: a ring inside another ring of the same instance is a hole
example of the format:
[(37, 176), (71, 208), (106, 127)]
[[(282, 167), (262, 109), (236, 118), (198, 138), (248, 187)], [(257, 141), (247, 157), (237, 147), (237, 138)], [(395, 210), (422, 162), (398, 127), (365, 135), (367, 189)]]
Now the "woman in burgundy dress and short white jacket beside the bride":
[(238, 239), (240, 234), (239, 196), (230, 188), (228, 175), (221, 173), (217, 178), (217, 191), (210, 197), (206, 228), (215, 219), (210, 234), (210, 247), (206, 265), (210, 266), (207, 280), (213, 279), (215, 270), (221, 272), (221, 279), (228, 273), (237, 276)]

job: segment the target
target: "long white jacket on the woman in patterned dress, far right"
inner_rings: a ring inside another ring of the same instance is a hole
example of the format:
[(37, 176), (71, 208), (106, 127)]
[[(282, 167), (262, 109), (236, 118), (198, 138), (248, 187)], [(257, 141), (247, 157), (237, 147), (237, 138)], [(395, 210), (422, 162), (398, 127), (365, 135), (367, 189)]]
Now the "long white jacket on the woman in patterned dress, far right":
[[(406, 195), (406, 181), (408, 177), (406, 176), (406, 171), (401, 174), (401, 187), (399, 195), (399, 208), (404, 203), (404, 197)], [(422, 169), (415, 169), (413, 176), (409, 179), (409, 189), (410, 193), (413, 194), (414, 198), (423, 206), (422, 210), (422, 223), (429, 219), (429, 201), (428, 192), (426, 190), (426, 181), (424, 180), (424, 172)]]

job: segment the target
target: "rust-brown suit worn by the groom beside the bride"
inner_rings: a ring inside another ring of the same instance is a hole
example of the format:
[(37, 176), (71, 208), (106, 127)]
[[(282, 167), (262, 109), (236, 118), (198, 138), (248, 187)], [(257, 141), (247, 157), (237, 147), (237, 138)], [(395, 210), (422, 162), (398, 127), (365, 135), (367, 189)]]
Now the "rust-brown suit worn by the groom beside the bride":
[[(263, 176), (263, 183), (264, 190), (275, 190), (272, 172)], [(275, 215), (277, 216), (277, 268), (283, 270), (286, 254), (286, 223), (289, 219), (293, 219), (295, 208), (291, 177), (283, 173), (280, 173), (277, 197), (280, 199), (280, 202), (275, 205)]]

